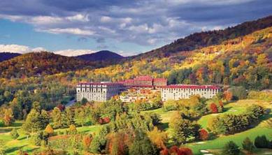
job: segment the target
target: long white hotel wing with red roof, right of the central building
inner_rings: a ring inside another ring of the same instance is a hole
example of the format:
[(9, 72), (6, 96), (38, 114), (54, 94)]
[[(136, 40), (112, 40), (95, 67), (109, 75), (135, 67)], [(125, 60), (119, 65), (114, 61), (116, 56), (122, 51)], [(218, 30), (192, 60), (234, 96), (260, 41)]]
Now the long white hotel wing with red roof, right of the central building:
[(179, 100), (199, 95), (203, 98), (213, 98), (220, 91), (220, 87), (214, 85), (187, 85), (177, 84), (161, 87), (162, 101)]

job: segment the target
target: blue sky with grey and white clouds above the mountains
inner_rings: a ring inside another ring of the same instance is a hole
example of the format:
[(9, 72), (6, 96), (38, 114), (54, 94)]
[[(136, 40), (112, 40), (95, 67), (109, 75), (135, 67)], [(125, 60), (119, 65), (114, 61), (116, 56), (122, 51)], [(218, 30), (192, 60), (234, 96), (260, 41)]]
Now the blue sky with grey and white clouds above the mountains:
[(272, 15), (271, 0), (1, 0), (0, 52), (147, 52)]

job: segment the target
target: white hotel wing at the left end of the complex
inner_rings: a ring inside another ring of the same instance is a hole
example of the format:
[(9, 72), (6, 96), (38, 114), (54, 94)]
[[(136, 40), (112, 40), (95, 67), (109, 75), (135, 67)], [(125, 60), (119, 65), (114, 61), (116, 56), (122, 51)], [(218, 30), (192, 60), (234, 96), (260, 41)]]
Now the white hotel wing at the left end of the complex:
[(105, 102), (120, 93), (122, 84), (114, 82), (83, 82), (76, 87), (76, 101), (86, 98), (87, 101)]

